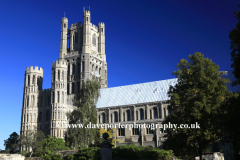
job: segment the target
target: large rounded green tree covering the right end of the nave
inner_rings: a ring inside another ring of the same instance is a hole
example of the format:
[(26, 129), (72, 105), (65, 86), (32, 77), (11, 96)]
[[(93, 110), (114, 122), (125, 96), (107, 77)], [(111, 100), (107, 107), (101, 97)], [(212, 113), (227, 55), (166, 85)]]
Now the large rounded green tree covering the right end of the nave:
[(173, 150), (175, 155), (187, 158), (196, 155), (195, 141), (198, 141), (198, 153), (201, 155), (209, 145), (218, 142), (224, 136), (222, 131), (224, 107), (233, 94), (225, 83), (229, 80), (221, 78), (219, 66), (211, 59), (204, 58), (201, 53), (189, 55), (189, 62), (185, 59), (177, 64), (178, 70), (173, 75), (178, 78), (175, 86), (170, 86), (168, 109), (171, 114), (163, 124), (200, 124), (199, 129), (177, 128), (168, 129), (168, 139), (164, 148)]

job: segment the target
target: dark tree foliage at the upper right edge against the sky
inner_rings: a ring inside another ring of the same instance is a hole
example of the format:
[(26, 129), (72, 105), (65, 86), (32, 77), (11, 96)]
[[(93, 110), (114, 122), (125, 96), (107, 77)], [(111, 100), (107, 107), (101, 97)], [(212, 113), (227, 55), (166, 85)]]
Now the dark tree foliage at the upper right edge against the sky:
[[(240, 4), (238, 7), (240, 8)], [(233, 73), (237, 79), (235, 82), (233, 82), (233, 85), (237, 85), (240, 84), (240, 12), (235, 11), (233, 13), (238, 19), (238, 23), (236, 25), (236, 28), (230, 32), (229, 38), (231, 39), (230, 49), (232, 49), (231, 60), (233, 62), (231, 67), (234, 68)]]

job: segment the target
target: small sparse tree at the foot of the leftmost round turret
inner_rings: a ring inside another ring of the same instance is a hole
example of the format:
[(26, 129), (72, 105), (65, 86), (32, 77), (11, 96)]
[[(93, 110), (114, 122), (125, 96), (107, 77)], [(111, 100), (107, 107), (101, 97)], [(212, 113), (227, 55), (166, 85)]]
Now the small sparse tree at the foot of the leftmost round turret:
[(40, 130), (29, 130), (20, 137), (21, 146), (23, 150), (28, 150), (31, 152), (30, 157), (33, 153), (40, 156), (43, 154), (43, 144), (45, 134)]

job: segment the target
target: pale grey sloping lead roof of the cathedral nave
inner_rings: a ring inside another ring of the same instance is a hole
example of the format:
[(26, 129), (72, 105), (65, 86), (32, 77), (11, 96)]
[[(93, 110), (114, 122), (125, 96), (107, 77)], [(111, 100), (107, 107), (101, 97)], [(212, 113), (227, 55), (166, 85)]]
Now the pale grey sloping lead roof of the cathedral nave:
[(169, 86), (175, 86), (176, 83), (177, 78), (174, 78), (101, 89), (97, 108), (169, 100)]

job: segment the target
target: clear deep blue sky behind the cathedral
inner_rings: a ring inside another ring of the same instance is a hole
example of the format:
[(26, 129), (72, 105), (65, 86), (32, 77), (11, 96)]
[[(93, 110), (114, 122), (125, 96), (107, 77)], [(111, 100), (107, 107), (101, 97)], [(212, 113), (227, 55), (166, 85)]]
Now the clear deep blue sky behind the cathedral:
[(232, 70), (229, 33), (237, 0), (4, 0), (0, 3), (0, 149), (20, 134), (24, 73), (43, 68), (51, 87), (52, 62), (60, 50), (61, 19), (106, 27), (108, 87), (175, 78), (180, 59), (201, 52), (220, 70)]

